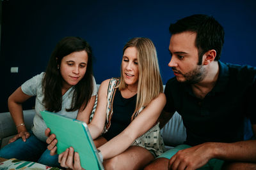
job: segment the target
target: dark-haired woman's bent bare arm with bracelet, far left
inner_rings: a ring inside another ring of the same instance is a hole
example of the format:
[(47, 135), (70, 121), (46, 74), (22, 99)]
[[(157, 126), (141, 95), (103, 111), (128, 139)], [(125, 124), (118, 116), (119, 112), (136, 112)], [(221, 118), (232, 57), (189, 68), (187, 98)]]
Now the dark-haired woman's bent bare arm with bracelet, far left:
[(24, 94), (22, 92), (21, 87), (19, 87), (13, 94), (8, 98), (8, 108), (12, 115), (13, 122), (15, 123), (17, 127), (18, 134), (10, 139), (10, 142), (15, 141), (18, 138), (22, 138), (23, 141), (26, 141), (26, 139), (29, 137), (29, 133), (27, 132), (27, 129), (24, 125), (24, 117), (23, 117), (23, 111), (22, 111), (22, 103), (24, 101), (28, 100), (31, 96), (28, 96), (27, 94)]

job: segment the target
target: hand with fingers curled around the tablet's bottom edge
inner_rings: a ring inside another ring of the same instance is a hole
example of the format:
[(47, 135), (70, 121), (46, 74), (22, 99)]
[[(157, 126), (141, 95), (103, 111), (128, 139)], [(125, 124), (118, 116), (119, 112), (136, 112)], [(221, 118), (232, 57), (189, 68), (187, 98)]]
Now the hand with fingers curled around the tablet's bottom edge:
[(74, 148), (70, 147), (59, 155), (59, 163), (62, 167), (81, 170), (80, 157), (77, 152), (74, 153)]

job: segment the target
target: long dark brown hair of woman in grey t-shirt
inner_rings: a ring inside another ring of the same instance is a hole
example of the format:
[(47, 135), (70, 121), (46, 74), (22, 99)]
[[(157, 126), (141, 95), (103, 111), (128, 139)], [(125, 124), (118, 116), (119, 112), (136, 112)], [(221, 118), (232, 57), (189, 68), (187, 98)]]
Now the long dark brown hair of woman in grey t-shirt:
[(92, 48), (79, 37), (65, 37), (56, 45), (47, 65), (44, 78), (42, 80), (42, 89), (44, 93), (44, 106), (48, 111), (58, 112), (61, 110), (62, 103), (62, 76), (58, 66), (61, 65), (63, 57), (72, 52), (86, 51), (88, 54), (88, 63), (84, 77), (74, 86), (74, 95), (70, 108), (67, 111), (76, 111), (81, 108), (84, 110), (92, 96), (93, 73), (92, 73)]

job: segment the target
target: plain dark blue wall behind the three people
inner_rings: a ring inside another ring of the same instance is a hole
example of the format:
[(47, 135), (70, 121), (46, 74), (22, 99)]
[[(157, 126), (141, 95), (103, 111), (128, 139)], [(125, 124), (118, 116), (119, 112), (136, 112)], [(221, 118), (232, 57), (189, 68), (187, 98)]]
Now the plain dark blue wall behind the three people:
[[(256, 66), (256, 1), (20, 1), (4, 0), (1, 30), (1, 105), (24, 81), (45, 70), (56, 43), (81, 36), (93, 47), (97, 83), (119, 76), (122, 48), (129, 38), (148, 37), (157, 48), (163, 82), (173, 76), (167, 66), (170, 22), (204, 13), (225, 28), (221, 60)], [(19, 67), (19, 73), (10, 73)], [(33, 99), (24, 104), (31, 108)]]

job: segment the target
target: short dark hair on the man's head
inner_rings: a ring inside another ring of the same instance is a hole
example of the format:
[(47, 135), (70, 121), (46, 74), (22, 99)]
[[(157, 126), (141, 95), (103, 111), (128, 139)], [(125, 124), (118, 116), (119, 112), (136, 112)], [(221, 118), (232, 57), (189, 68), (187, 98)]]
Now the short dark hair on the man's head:
[(218, 21), (207, 15), (191, 15), (170, 24), (171, 34), (184, 31), (196, 32), (195, 46), (198, 48), (198, 64), (202, 64), (202, 57), (209, 50), (216, 50), (214, 60), (219, 60), (224, 43), (224, 29)]

